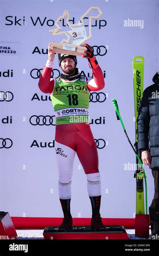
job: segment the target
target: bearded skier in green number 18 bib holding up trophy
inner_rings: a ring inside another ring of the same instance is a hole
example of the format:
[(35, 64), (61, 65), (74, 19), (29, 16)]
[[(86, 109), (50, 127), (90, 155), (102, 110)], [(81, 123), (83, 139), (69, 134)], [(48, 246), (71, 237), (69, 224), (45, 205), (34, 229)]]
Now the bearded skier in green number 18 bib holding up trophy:
[[(93, 48), (87, 48), (86, 56), (93, 78), (81, 76), (78, 72), (77, 59), (74, 55), (58, 54), (62, 73), (58, 78), (51, 78), (55, 54), (48, 46), (48, 60), (42, 70), (39, 88), (49, 93), (56, 117), (55, 152), (59, 174), (58, 191), (63, 211), (60, 229), (72, 228), (70, 213), (71, 179), (75, 152), (84, 168), (87, 177), (88, 195), (92, 205), (92, 229), (105, 228), (100, 216), (101, 181), (98, 169), (98, 152), (89, 124), (90, 91), (102, 90), (105, 86), (102, 70), (96, 60)], [(82, 184), (81, 184), (82, 189)]]

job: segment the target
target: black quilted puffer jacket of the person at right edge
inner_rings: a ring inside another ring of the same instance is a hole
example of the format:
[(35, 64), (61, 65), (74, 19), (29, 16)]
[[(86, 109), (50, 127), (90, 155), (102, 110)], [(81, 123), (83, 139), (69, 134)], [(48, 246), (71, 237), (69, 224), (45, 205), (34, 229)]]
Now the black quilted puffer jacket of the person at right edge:
[(143, 92), (138, 124), (138, 149), (149, 150), (152, 161), (149, 168), (159, 170), (159, 75), (153, 77), (154, 84)]

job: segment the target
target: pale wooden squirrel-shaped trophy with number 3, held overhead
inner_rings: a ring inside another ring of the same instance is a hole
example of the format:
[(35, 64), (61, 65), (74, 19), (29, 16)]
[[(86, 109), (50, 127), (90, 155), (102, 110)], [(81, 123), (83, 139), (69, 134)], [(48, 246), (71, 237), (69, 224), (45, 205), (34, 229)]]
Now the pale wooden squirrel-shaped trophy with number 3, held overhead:
[[(97, 9), (99, 11), (98, 16), (90, 16), (89, 17), (89, 36), (86, 34), (85, 25), (83, 19), (86, 15), (92, 10)], [(69, 23), (69, 13), (68, 10), (64, 10), (62, 16), (59, 16), (55, 22), (57, 28), (50, 29), (49, 32), (52, 33), (53, 36), (65, 34), (67, 36), (67, 40), (63, 39), (60, 43), (52, 43), (51, 50), (53, 53), (62, 53), (62, 54), (69, 54), (69, 55), (87, 55), (83, 52), (83, 50), (87, 50), (85, 46), (81, 46), (85, 43), (88, 39), (91, 38), (91, 22), (92, 19), (98, 20), (99, 17), (102, 15), (102, 11), (99, 7), (90, 7), (81, 17), (81, 22), (76, 24)], [(59, 26), (59, 20), (66, 18), (66, 23), (72, 29), (70, 31), (63, 31), (59, 32), (62, 28)]]

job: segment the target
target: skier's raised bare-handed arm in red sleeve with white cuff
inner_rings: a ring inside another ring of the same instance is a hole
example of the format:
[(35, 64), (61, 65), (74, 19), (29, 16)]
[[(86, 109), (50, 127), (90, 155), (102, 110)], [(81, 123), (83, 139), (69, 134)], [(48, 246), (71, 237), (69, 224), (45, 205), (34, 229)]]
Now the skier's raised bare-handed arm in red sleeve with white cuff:
[(51, 43), (49, 43), (48, 46), (48, 60), (46, 62), (45, 67), (42, 70), (42, 73), (40, 75), (38, 86), (40, 90), (44, 93), (52, 93), (54, 89), (54, 79), (51, 77), (51, 71), (53, 67), (53, 60), (55, 58), (55, 53), (52, 53), (51, 51)]

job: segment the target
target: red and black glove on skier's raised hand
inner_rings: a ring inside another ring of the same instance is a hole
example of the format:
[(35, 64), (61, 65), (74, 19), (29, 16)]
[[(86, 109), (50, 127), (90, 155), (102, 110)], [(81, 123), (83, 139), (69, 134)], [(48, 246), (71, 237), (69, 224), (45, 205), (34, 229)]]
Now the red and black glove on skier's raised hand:
[(84, 46), (87, 48), (87, 50), (83, 50), (84, 53), (87, 53), (87, 55), (81, 55), (83, 58), (87, 58), (89, 61), (89, 67), (91, 65), (90, 68), (97, 68), (98, 67), (98, 61), (96, 60), (96, 56), (94, 55), (94, 50), (93, 48), (87, 44), (84, 43)]

